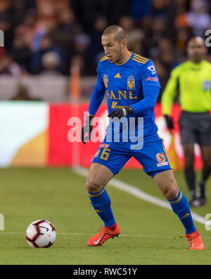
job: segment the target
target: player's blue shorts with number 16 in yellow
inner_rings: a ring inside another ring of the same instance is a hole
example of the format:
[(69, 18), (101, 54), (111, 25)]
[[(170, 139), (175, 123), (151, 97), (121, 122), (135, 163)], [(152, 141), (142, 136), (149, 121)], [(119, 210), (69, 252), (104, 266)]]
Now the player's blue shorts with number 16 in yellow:
[(120, 172), (122, 167), (132, 157), (140, 162), (144, 172), (152, 178), (155, 174), (164, 172), (165, 170), (172, 170), (170, 161), (167, 158), (165, 146), (163, 145), (163, 140), (158, 135), (148, 140), (144, 139), (141, 149), (132, 150), (131, 144), (103, 141), (92, 163), (98, 162), (101, 165), (105, 165), (114, 175)]

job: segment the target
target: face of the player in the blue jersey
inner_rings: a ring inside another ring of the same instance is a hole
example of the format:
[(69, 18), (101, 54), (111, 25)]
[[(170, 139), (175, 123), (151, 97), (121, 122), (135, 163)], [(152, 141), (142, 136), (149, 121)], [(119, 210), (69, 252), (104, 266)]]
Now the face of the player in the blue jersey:
[(102, 45), (110, 63), (118, 63), (122, 59), (124, 44), (114, 40), (114, 34), (103, 35)]

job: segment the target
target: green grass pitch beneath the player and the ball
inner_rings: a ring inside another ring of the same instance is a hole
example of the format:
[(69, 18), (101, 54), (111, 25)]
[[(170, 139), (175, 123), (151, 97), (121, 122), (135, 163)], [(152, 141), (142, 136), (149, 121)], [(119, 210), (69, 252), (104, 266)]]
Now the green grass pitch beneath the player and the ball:
[[(200, 173), (198, 173), (199, 179)], [(175, 173), (181, 191), (188, 191), (183, 172)], [(0, 265), (22, 264), (210, 264), (211, 230), (196, 222), (205, 243), (204, 251), (190, 251), (184, 228), (171, 210), (160, 208), (124, 191), (108, 186), (113, 212), (121, 235), (101, 247), (88, 247), (87, 240), (102, 224), (91, 207), (85, 178), (68, 168), (6, 168), (0, 170)], [(122, 170), (116, 179), (165, 201), (153, 180), (140, 170)], [(211, 179), (208, 202), (191, 209), (205, 217), (211, 213)], [(57, 238), (49, 249), (32, 249), (25, 231), (34, 220), (49, 220)]]

